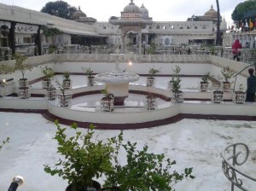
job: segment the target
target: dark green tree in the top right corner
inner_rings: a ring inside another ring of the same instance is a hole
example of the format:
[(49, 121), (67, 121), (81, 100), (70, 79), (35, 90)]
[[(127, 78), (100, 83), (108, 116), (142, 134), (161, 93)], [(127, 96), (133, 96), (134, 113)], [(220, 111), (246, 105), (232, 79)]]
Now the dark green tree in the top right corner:
[(256, 0), (247, 0), (243, 3), (236, 5), (233, 13), (231, 14), (232, 20), (240, 21), (244, 19), (247, 12), (256, 10)]

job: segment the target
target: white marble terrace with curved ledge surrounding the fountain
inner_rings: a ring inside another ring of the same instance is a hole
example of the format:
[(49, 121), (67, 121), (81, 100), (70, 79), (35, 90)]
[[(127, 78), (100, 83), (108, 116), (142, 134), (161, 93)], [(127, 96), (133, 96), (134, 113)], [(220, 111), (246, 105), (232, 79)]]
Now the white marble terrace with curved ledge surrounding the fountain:
[[(159, 60), (159, 61), (157, 61)], [(214, 78), (218, 78), (224, 66), (230, 66), (236, 72), (240, 72), (247, 64), (230, 61), (213, 55), (122, 55), (119, 56), (119, 67), (126, 69), (126, 72), (137, 73), (139, 75), (148, 74), (150, 67), (160, 68), (160, 75), (154, 88), (146, 86), (146, 77), (140, 76), (137, 82), (129, 85), (129, 96), (124, 107), (115, 107), (113, 112), (103, 112), (99, 107), (102, 95), (100, 90), (105, 88), (105, 84), (97, 83), (95, 86), (87, 86), (86, 78), (83, 75), (82, 67), (90, 67), (95, 73), (110, 72), (115, 67), (114, 59), (111, 55), (44, 55), (30, 57), (28, 61), (35, 66), (32, 72), (26, 72), (26, 78), (31, 82), (32, 95), (44, 95), (39, 79), (43, 77), (41, 67), (48, 65), (55, 70), (55, 78), (62, 78), (61, 73), (71, 72), (73, 81), (72, 89), (68, 90), (73, 94), (73, 101), (69, 107), (57, 107), (55, 101), (47, 101), (44, 97), (30, 97), (19, 99), (15, 96), (1, 96), (0, 107), (5, 110), (21, 111), (47, 111), (57, 118), (78, 121), (82, 123), (94, 124), (143, 124), (153, 123), (154, 126), (159, 120), (166, 120), (172, 123), (177, 116), (186, 118), (212, 119), (212, 116), (230, 116), (231, 119), (253, 119), (256, 114), (254, 103), (236, 104), (231, 101), (232, 91), (224, 92), (224, 101), (213, 103), (212, 90), (207, 92), (199, 90), (201, 75), (210, 72)], [(133, 65), (129, 66), (128, 61)], [(1, 62), (1, 64), (12, 64), (13, 61)], [(167, 90), (167, 82), (171, 79), (172, 68), (181, 67), (183, 96), (185, 101), (174, 103), (158, 98), (157, 109), (148, 111), (144, 108), (144, 96), (148, 91), (171, 99), (171, 92)], [(0, 76), (0, 78), (15, 78), (15, 84), (20, 78), (20, 73)], [(238, 75), (236, 86), (243, 84), (246, 88), (247, 70)], [(235, 78), (232, 79), (235, 81)], [(6, 87), (8, 89), (8, 87)], [(15, 93), (15, 86), (9, 86)], [(235, 87), (235, 90), (238, 87)], [(3, 92), (3, 90), (2, 90)], [(93, 94), (90, 92), (94, 92)], [(96, 92), (96, 93), (95, 93)], [(140, 92), (140, 95), (137, 94)], [(142, 95), (142, 92), (144, 95)], [(78, 96), (79, 95), (79, 96)]]

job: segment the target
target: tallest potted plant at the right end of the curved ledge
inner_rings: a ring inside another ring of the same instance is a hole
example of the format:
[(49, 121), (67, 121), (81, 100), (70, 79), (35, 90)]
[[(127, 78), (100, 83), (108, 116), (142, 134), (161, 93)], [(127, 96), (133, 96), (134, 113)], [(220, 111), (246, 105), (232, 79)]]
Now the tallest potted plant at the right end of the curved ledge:
[(180, 72), (181, 68), (175, 66), (175, 69), (172, 70), (174, 74), (172, 75), (172, 79), (169, 81), (168, 87), (172, 90), (172, 100), (174, 102), (183, 102), (183, 91), (180, 89)]

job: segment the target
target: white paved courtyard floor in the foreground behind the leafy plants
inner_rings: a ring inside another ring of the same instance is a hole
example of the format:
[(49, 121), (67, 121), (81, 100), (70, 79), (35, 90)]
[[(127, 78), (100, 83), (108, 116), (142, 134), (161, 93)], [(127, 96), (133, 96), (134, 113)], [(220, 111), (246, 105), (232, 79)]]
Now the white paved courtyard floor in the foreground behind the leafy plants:
[[(79, 77), (73, 86), (79, 86), (83, 80), (85, 83), (85, 78)], [(167, 78), (165, 80), (167, 82)], [(165, 84), (163, 81), (159, 83)], [(90, 102), (91, 97), (85, 99)], [(0, 151), (0, 190), (7, 190), (12, 177), (16, 175), (25, 179), (19, 191), (65, 190), (66, 181), (44, 172), (44, 164), (54, 165), (59, 159), (57, 144), (52, 139), (55, 130), (55, 124), (38, 113), (0, 113), (0, 141), (10, 138)], [(67, 128), (67, 133), (73, 135), (74, 132)], [(118, 135), (119, 130), (96, 130), (96, 133), (101, 138), (107, 138)], [(230, 182), (224, 177), (220, 153), (232, 143), (246, 143), (250, 155), (240, 169), (255, 177), (255, 135), (255, 121), (183, 119), (154, 128), (125, 130), (124, 141), (137, 142), (138, 148), (148, 144), (150, 151), (165, 153), (166, 157), (177, 161), (173, 171), (193, 167), (195, 179), (177, 183), (175, 188), (178, 191), (229, 191)], [(125, 163), (125, 159), (121, 160), (121, 163)], [(98, 181), (103, 182), (103, 179)], [(248, 185), (249, 190), (256, 188), (256, 182), (244, 184)]]

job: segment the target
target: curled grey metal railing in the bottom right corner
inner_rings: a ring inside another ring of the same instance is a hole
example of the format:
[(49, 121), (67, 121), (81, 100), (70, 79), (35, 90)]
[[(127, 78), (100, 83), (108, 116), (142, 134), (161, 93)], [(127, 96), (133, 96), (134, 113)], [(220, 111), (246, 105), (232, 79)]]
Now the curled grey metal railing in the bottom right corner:
[(250, 177), (244, 171), (241, 171), (238, 166), (243, 165), (249, 156), (249, 148), (244, 143), (231, 144), (221, 153), (223, 158), (222, 170), (224, 176), (231, 182), (231, 191), (234, 191), (235, 186), (241, 190), (254, 190), (248, 188), (244, 182), (256, 182), (255, 177)]

